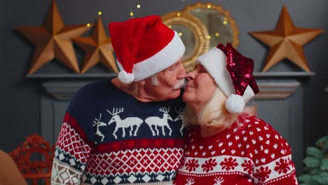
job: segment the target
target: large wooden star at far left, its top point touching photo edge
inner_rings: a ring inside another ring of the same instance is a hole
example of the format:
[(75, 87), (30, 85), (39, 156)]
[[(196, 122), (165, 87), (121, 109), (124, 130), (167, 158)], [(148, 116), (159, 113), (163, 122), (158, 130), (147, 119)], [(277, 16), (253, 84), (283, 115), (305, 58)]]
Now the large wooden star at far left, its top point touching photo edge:
[(87, 25), (65, 26), (55, 0), (48, 10), (43, 27), (18, 27), (18, 32), (35, 45), (28, 74), (33, 74), (54, 58), (79, 73), (80, 69), (71, 38), (81, 36), (88, 29), (90, 27)]

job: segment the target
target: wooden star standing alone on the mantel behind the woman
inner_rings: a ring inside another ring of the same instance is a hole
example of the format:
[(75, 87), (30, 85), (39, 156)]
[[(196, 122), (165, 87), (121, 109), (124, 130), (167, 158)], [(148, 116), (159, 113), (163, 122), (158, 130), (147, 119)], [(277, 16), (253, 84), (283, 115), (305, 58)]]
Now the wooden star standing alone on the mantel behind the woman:
[(324, 29), (294, 27), (286, 6), (283, 6), (275, 30), (249, 34), (270, 46), (263, 71), (267, 71), (285, 58), (305, 71), (310, 71), (303, 46), (322, 32)]

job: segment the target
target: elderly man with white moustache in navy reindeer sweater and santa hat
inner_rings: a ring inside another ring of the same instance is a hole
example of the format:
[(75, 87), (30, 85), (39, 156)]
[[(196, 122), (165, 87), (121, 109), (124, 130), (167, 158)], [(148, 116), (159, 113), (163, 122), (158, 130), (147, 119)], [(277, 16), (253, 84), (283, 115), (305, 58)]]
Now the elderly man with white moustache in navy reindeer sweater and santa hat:
[(52, 184), (172, 184), (183, 153), (184, 44), (156, 15), (109, 25), (121, 69), (64, 116)]

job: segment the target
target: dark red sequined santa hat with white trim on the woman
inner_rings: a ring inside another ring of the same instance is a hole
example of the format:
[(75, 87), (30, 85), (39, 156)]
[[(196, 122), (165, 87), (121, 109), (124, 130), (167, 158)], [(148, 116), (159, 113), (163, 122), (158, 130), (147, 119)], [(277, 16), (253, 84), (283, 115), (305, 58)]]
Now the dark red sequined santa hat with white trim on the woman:
[(254, 61), (238, 53), (231, 43), (226, 47), (219, 44), (197, 60), (228, 97), (225, 106), (229, 112), (241, 113), (245, 104), (259, 93), (253, 76)]

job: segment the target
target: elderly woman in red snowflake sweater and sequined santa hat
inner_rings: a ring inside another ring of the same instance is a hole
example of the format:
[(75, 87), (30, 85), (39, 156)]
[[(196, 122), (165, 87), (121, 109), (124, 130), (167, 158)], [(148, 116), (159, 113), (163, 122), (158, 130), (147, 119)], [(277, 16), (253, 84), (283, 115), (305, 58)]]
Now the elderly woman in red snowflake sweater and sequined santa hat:
[(253, 60), (228, 43), (198, 63), (183, 95), (190, 129), (174, 184), (298, 184), (286, 140), (245, 107), (259, 92)]

